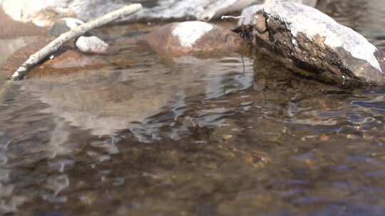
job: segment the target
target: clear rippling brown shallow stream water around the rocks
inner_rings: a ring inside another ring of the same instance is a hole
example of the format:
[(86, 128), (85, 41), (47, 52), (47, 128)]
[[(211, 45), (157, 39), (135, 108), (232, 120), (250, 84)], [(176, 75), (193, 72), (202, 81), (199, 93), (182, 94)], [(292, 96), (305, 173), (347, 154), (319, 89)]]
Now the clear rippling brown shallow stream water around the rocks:
[[(319, 7), (385, 49), (380, 0)], [(135, 42), (150, 28), (101, 31), (122, 47), (103, 67), (11, 87), (0, 212), (385, 215), (383, 87), (342, 90), (260, 55), (163, 58)]]

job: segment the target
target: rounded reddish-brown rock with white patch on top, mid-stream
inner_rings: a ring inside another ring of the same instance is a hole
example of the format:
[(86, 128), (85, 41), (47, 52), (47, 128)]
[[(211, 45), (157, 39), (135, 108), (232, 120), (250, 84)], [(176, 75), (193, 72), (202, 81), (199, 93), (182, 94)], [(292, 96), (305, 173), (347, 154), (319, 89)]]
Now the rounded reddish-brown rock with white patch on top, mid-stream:
[(165, 55), (223, 54), (240, 49), (240, 36), (201, 21), (170, 23), (148, 34), (147, 43)]

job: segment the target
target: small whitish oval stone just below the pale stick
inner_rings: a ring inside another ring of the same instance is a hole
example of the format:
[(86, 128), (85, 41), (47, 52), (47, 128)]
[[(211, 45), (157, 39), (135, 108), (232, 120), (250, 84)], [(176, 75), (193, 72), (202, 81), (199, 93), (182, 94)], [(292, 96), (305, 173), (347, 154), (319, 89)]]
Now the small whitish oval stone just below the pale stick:
[(76, 41), (76, 48), (82, 53), (105, 54), (108, 50), (108, 44), (96, 36), (81, 36)]

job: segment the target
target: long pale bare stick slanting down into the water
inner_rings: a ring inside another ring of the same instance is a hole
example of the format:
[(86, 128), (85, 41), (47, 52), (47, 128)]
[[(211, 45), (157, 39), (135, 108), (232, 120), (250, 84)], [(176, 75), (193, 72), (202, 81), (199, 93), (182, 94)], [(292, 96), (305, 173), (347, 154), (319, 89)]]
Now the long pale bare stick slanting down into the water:
[(132, 13), (135, 13), (140, 9), (142, 9), (141, 4), (130, 4), (128, 6), (123, 6), (123, 8), (113, 11), (111, 13), (107, 13), (104, 16), (96, 18), (93, 21), (88, 21), (87, 23), (83, 23), (80, 26), (76, 26), (75, 28), (72, 28), (71, 31), (61, 34), (61, 36), (58, 36), (58, 38), (53, 40), (51, 43), (48, 43), (48, 45), (46, 45), (44, 48), (39, 50), (37, 53), (34, 53), (34, 55), (31, 55), (29, 59), (26, 60), (26, 62), (23, 63), (21, 67), (18, 68), (11, 75), (11, 77), (9, 77), (9, 79), (10, 80), (23, 79), (28, 74), (29, 70), (31, 70), (31, 68), (33, 68), (36, 64), (40, 63), (41, 60), (43, 60), (47, 56), (51, 55), (51, 53), (61, 48), (61, 46), (64, 43), (67, 43), (68, 41), (71, 41), (73, 38), (77, 38), (78, 36), (82, 36), (87, 31), (90, 31), (93, 28), (99, 28), (101, 26), (104, 26), (108, 23), (116, 21), (119, 18), (123, 18)]

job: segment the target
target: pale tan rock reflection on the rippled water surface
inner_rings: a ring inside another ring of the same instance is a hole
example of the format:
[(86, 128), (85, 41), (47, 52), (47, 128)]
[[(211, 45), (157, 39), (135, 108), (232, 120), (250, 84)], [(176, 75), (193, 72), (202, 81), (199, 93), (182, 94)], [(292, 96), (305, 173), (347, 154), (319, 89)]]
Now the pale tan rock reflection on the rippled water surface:
[[(183, 108), (186, 97), (210, 99), (252, 85), (250, 59), (242, 63), (238, 57), (185, 58), (175, 59), (171, 65), (87, 73), (87, 79), (73, 74), (24, 80), (22, 92), (48, 104), (41, 112), (57, 117), (51, 138), (55, 145), (68, 136), (60, 129), (64, 122), (97, 136), (113, 135), (137, 127), (135, 122), (145, 122), (165, 107)], [(152, 130), (148, 134), (155, 136), (157, 129)]]

